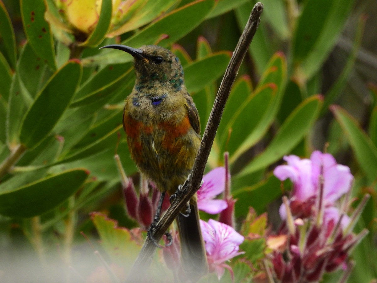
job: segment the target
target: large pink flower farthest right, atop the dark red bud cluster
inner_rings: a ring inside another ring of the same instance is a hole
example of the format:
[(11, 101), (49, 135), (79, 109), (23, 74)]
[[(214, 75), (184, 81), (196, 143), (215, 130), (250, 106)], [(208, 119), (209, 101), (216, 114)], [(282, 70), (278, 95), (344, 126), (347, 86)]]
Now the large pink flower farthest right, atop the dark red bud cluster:
[[(336, 209), (334, 203), (351, 189), (353, 176), (349, 168), (337, 164), (333, 155), (320, 151), (314, 151), (310, 159), (300, 159), (296, 155), (289, 155), (285, 156), (284, 160), (288, 164), (277, 166), (274, 175), (282, 181), (290, 178), (293, 182), (293, 192), (290, 198), (293, 215), (308, 217), (311, 214), (318, 194), (322, 170), (324, 220), (327, 223), (334, 219), (336, 223), (339, 213), (334, 211)], [(282, 219), (287, 218), (284, 205), (280, 206), (279, 213)], [(347, 217), (343, 218), (342, 226), (347, 224), (347, 220)]]

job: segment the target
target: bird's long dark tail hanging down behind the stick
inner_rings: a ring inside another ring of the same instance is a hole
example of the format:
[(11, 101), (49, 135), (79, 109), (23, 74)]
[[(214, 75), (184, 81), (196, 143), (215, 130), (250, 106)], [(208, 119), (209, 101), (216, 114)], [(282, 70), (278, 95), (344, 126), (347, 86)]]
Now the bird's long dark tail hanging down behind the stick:
[(196, 200), (190, 200), (188, 217), (179, 214), (176, 218), (181, 241), (181, 265), (190, 281), (198, 281), (208, 272), (207, 255), (199, 223)]

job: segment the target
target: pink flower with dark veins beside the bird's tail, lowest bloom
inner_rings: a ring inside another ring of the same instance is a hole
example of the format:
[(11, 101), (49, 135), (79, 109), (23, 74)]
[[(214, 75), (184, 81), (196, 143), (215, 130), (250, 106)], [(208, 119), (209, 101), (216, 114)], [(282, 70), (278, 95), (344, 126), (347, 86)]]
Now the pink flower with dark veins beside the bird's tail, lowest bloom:
[(239, 252), (239, 245), (245, 238), (232, 227), (213, 219), (208, 220), (208, 223), (200, 220), (200, 226), (210, 271), (216, 272), (219, 279), (224, 274), (225, 268), (233, 274), (230, 266), (224, 262), (244, 253)]

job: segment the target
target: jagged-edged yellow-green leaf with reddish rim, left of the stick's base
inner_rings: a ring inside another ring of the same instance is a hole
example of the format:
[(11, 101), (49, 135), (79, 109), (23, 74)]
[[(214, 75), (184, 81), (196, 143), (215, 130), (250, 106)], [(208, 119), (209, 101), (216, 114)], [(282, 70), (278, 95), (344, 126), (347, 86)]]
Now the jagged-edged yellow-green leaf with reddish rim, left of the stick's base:
[(129, 229), (118, 227), (118, 222), (99, 212), (90, 213), (90, 218), (100, 235), (103, 249), (112, 261), (120, 266), (131, 268), (141, 250), (141, 246), (136, 243), (137, 236)]

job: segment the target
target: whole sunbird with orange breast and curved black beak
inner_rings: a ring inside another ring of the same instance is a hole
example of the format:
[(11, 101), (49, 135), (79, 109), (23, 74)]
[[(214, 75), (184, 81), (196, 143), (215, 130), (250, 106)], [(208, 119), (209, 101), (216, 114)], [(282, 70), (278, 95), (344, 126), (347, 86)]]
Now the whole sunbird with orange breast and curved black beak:
[[(118, 44), (101, 48), (119, 49), (134, 58), (136, 80), (125, 101), (123, 128), (139, 172), (161, 191), (155, 220), (148, 230), (150, 240), (159, 246), (153, 231), (164, 195), (166, 192), (175, 195), (187, 179), (201, 143), (199, 113), (185, 86), (179, 58), (169, 49)], [(176, 223), (182, 269), (196, 281), (207, 273), (208, 263), (195, 195), (186, 211), (176, 217)], [(169, 233), (167, 236), (171, 240)]]

